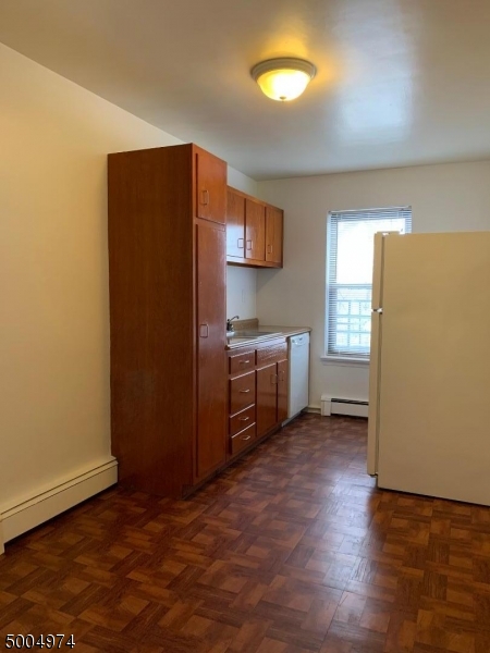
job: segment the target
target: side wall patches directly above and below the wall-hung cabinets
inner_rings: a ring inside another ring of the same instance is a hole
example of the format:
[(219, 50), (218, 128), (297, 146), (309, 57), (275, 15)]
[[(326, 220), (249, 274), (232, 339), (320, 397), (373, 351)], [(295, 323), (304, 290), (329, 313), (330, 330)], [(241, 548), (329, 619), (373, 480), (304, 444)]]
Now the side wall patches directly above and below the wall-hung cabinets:
[[(257, 182), (236, 170), (229, 169), (228, 184), (232, 188), (257, 196)], [(255, 318), (257, 294), (257, 270), (226, 266), (226, 317), (240, 316), (241, 320)]]

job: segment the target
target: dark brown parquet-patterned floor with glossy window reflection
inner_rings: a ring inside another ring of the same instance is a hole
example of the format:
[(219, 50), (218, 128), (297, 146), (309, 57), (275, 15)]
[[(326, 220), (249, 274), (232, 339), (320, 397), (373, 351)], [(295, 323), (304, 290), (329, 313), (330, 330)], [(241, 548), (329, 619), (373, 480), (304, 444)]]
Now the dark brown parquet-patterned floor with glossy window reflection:
[(490, 509), (378, 491), (366, 431), (304, 415), (187, 501), (113, 489), (8, 544), (0, 646), (489, 653)]

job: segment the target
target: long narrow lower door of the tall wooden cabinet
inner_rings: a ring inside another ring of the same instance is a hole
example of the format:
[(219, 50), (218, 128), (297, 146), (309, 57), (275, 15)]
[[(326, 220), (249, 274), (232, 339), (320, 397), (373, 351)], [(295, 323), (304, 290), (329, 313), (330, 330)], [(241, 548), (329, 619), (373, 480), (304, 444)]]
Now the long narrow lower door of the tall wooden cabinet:
[[(212, 223), (196, 229), (197, 424), (196, 477), (225, 460), (226, 356), (224, 230)], [(169, 310), (172, 307), (169, 306)], [(192, 397), (176, 401), (192, 402)]]

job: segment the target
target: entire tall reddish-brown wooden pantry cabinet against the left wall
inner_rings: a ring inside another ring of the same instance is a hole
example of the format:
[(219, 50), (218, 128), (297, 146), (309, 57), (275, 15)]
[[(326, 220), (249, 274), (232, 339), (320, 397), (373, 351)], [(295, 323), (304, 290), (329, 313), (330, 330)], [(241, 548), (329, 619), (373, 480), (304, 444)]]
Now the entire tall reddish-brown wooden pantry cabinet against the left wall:
[(226, 164), (182, 145), (109, 156), (112, 452), (183, 496), (226, 459)]

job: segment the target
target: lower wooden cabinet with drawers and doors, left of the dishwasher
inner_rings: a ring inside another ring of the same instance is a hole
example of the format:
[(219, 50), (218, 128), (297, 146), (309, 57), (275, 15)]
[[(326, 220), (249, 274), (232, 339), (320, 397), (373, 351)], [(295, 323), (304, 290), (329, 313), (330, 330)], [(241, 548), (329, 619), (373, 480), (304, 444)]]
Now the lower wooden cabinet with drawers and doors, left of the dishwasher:
[[(250, 370), (253, 367), (253, 370)], [(229, 457), (287, 418), (287, 345), (274, 338), (229, 352)]]

